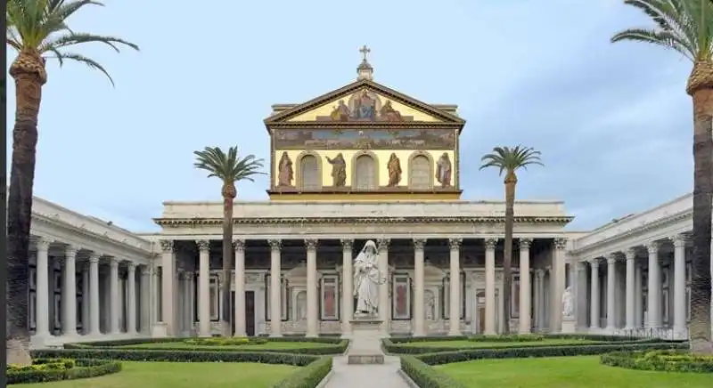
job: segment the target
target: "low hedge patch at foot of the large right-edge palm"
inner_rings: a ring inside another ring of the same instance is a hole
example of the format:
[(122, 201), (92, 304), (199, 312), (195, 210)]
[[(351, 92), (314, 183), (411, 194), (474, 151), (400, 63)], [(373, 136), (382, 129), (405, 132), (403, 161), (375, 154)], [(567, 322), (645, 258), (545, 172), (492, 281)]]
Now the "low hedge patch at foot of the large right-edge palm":
[(662, 372), (713, 373), (713, 356), (697, 356), (684, 350), (613, 352), (602, 355), (603, 365)]

